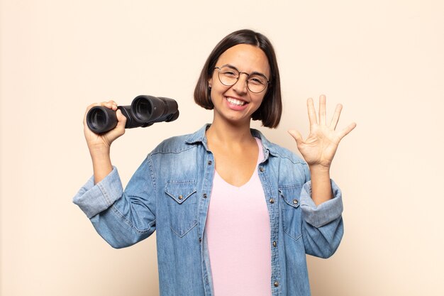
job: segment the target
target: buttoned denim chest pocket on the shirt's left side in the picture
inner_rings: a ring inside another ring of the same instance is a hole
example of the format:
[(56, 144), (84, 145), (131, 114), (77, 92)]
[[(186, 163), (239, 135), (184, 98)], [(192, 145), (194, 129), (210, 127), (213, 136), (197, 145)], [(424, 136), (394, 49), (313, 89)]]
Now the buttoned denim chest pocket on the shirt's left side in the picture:
[(171, 180), (165, 185), (169, 221), (172, 231), (179, 237), (197, 224), (195, 180)]

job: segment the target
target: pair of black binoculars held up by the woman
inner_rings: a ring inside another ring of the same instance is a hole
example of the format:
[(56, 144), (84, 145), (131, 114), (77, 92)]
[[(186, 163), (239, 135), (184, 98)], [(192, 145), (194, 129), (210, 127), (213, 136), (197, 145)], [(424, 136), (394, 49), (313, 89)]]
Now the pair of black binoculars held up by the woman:
[[(145, 128), (155, 122), (174, 121), (179, 117), (177, 102), (164, 97), (141, 95), (130, 106), (118, 106), (126, 117), (125, 128)], [(87, 114), (87, 125), (94, 133), (106, 133), (117, 126), (116, 111), (105, 106), (94, 106)]]

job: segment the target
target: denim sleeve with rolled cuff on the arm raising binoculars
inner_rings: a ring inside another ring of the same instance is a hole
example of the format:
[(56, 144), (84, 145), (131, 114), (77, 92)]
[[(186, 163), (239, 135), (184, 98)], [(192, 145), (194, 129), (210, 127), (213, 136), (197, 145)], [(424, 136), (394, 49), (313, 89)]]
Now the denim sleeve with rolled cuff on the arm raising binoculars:
[(146, 158), (125, 190), (115, 167), (94, 185), (94, 177), (74, 196), (96, 231), (113, 248), (142, 241), (155, 231), (155, 182)]

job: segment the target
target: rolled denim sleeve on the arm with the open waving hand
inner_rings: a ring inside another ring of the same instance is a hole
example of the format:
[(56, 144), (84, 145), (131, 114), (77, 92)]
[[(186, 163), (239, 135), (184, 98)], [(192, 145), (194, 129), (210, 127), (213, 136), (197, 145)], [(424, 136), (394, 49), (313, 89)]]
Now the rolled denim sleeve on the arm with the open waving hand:
[(331, 180), (333, 198), (316, 206), (311, 199), (311, 181), (301, 191), (302, 237), (306, 253), (328, 258), (335, 253), (343, 237), (343, 201), (338, 185)]

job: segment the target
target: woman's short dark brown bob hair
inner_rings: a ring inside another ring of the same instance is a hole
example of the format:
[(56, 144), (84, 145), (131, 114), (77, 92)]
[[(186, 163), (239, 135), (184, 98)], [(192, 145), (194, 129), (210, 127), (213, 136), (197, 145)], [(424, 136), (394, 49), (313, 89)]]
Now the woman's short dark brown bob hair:
[(211, 110), (214, 108), (210, 98), (209, 79), (213, 76), (214, 67), (216, 67), (218, 58), (228, 50), (228, 48), (232, 48), (238, 44), (255, 45), (267, 56), (271, 70), (270, 83), (268, 84), (267, 93), (264, 96), (262, 104), (251, 117), (252, 120), (262, 121), (263, 126), (276, 128), (281, 120), (282, 114), (279, 68), (277, 67), (276, 55), (272, 43), (270, 43), (270, 40), (268, 40), (265, 35), (255, 31), (235, 31), (227, 35), (216, 45), (205, 62), (199, 80), (197, 80), (196, 88), (194, 89), (194, 102), (205, 109)]

